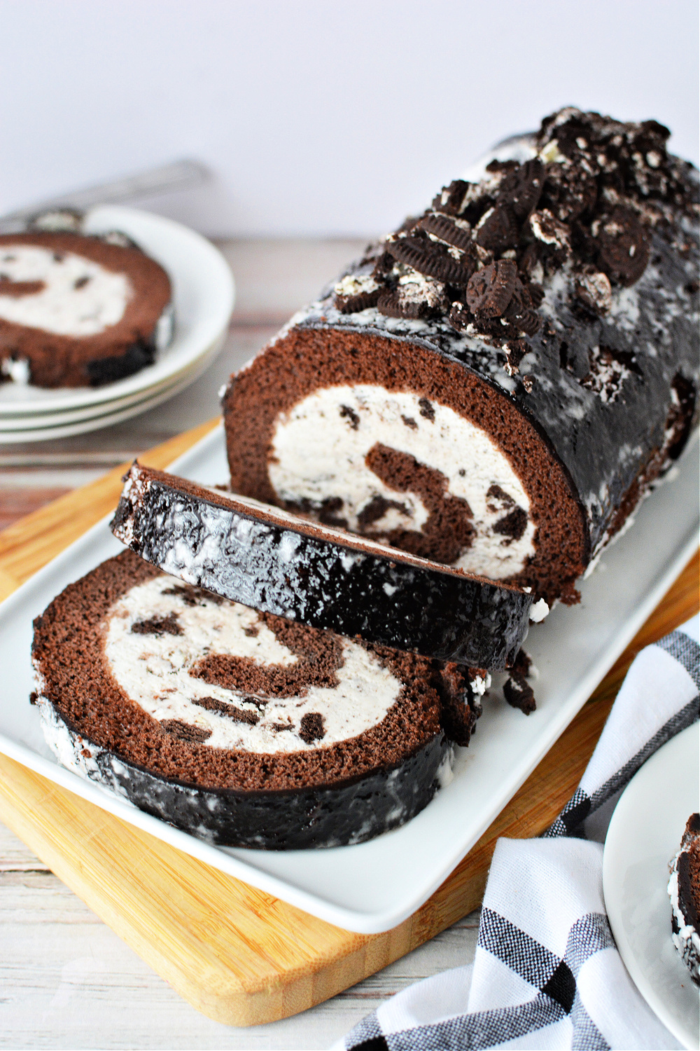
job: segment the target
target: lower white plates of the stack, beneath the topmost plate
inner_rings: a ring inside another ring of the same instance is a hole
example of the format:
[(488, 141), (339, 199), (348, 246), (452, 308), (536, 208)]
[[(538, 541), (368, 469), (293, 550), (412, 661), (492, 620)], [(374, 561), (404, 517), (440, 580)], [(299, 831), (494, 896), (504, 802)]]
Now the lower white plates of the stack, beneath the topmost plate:
[(119, 398), (115, 403), (108, 401), (85, 409), (76, 409), (73, 412), (20, 416), (14, 417), (10, 423), (0, 420), (0, 445), (17, 441), (45, 441), (49, 438), (82, 434), (85, 431), (108, 427), (146, 412), (147, 409), (161, 405), (162, 401), (179, 394), (186, 387), (193, 384), (209, 368), (224, 346), (226, 332), (222, 332), (220, 338), (207, 350), (206, 354), (197, 358), (193, 366), (178, 373), (169, 383), (158, 385), (154, 391), (149, 390), (137, 396)]

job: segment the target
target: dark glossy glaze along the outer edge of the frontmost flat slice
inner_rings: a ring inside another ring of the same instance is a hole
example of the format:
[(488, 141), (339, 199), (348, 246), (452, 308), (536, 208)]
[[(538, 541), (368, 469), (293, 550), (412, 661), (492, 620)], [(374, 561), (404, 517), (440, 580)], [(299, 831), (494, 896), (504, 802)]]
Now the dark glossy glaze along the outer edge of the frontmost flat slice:
[(127, 762), (78, 734), (46, 698), (38, 703), (52, 730), (69, 735), (83, 776), (219, 846), (304, 850), (363, 843), (405, 824), (430, 802), (440, 787), (441, 765), (450, 755), (445, 735), (438, 734), (399, 766), (357, 780), (300, 790), (210, 789), (157, 777)]

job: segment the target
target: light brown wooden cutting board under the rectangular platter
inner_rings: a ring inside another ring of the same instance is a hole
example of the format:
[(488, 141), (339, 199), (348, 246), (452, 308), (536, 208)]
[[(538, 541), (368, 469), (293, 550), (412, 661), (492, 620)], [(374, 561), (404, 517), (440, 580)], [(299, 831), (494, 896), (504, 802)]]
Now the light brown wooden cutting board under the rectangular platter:
[[(140, 459), (166, 467), (212, 420)], [(4, 598), (116, 504), (124, 468), (0, 533)], [(698, 610), (694, 558), (595, 694), (445, 883), (384, 934), (342, 930), (142, 832), (0, 756), (0, 818), (194, 1007), (259, 1025), (360, 982), (481, 902), (499, 836), (536, 836), (571, 796), (635, 654)]]

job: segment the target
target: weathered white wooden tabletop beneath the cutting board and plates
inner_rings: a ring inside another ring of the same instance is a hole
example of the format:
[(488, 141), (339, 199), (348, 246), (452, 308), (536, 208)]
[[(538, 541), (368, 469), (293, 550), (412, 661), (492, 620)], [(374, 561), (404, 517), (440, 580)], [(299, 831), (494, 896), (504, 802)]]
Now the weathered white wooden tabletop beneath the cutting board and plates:
[[(237, 303), (220, 356), (187, 391), (132, 420), (0, 450), (0, 528), (218, 412), (217, 391), (364, 247), (228, 242)], [(473, 960), (479, 914), (294, 1018), (253, 1029), (186, 1004), (0, 825), (0, 1048), (325, 1048), (411, 982)]]

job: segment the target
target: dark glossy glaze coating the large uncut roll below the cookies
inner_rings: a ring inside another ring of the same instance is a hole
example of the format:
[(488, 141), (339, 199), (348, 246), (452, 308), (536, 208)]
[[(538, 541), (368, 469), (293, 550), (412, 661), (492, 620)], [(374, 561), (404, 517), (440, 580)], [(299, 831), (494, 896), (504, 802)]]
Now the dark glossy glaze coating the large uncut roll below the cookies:
[[(624, 494), (653, 454), (664, 448), (676, 377), (690, 385), (691, 404), (669, 461), (681, 453), (697, 424), (700, 343), (698, 292), (693, 290), (698, 275), (697, 228), (683, 222), (682, 235), (690, 246), (683, 255), (654, 231), (644, 273), (632, 288), (613, 290), (613, 309), (604, 317), (573, 312), (569, 282), (559, 271), (557, 280), (546, 285), (543, 308), (549, 306), (548, 323), (537, 334), (525, 337), (529, 352), (515, 376), (505, 371), (503, 351), (457, 332), (446, 318), (385, 317), (376, 308), (343, 314), (334, 305), (333, 287), (294, 323), (300, 328), (376, 333), (417, 344), (459, 362), (490, 384), (534, 424), (565, 466), (594, 552)], [(346, 272), (372, 270), (365, 265)], [(633, 360), (612, 401), (580, 383), (589, 372), (589, 349), (596, 347), (613, 348)], [(531, 390), (523, 383), (525, 376), (530, 377)]]

